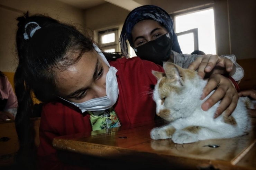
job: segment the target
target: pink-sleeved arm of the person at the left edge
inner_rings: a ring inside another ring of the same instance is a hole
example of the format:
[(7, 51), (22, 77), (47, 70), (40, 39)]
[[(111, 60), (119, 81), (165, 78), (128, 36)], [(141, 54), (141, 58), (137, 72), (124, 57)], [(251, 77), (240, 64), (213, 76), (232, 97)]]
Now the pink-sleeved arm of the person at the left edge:
[(7, 99), (7, 104), (4, 107), (3, 111), (0, 111), (0, 121), (4, 121), (7, 119), (14, 120), (17, 113), (17, 106), (18, 106), (17, 97), (14, 94), (11, 83), (8, 81), (8, 78), (6, 76), (5, 76), (5, 81), (2, 83), (6, 88), (8, 99)]

